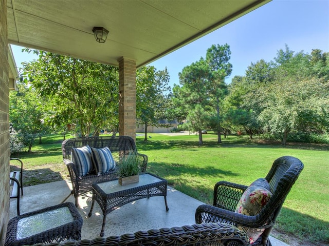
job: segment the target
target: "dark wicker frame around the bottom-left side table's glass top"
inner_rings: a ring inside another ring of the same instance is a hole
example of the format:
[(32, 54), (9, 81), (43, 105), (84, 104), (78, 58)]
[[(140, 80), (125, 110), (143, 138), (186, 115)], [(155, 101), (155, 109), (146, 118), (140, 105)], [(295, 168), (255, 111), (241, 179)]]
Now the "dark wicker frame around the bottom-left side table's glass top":
[[(63, 207), (67, 207), (69, 209), (70, 214), (73, 217), (72, 222), (63, 224), (60, 227), (53, 228), (42, 233), (32, 235), (30, 237), (16, 239), (17, 223), (20, 219)], [(41, 210), (36, 210), (10, 219), (7, 228), (5, 246), (31, 245), (33, 243), (47, 243), (51, 241), (61, 242), (66, 239), (80, 240), (82, 224), (83, 220), (81, 218), (81, 215), (75, 208), (74, 204), (71, 202), (62, 203), (57, 206), (52, 206)]]

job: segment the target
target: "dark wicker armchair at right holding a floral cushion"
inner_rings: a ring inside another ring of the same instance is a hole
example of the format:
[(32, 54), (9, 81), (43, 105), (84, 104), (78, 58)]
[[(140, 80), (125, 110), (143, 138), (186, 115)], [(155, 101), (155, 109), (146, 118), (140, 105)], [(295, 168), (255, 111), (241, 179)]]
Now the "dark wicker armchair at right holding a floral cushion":
[(214, 188), (213, 206), (200, 205), (195, 212), (196, 223), (224, 222), (234, 226), (265, 229), (252, 245), (271, 245), (268, 236), (291, 187), (303, 170), (303, 163), (291, 156), (276, 159), (265, 177), (272, 197), (255, 216), (235, 213), (237, 203), (247, 186), (220, 181)]

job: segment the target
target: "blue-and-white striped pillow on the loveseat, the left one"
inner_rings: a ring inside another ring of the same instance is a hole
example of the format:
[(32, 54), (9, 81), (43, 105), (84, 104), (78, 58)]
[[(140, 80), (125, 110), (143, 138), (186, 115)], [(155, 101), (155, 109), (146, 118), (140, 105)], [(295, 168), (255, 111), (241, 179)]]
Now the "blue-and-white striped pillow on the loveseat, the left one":
[(71, 149), (71, 158), (77, 167), (78, 177), (83, 177), (93, 171), (91, 154), (92, 150), (88, 145)]

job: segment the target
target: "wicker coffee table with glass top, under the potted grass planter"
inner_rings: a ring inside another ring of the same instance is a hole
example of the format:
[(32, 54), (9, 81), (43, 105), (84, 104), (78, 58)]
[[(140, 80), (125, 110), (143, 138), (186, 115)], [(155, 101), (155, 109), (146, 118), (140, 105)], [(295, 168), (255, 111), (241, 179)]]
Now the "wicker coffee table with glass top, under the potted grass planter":
[(94, 183), (92, 185), (93, 203), (88, 216), (92, 216), (94, 204), (97, 201), (103, 212), (103, 224), (100, 233), (102, 237), (104, 236), (106, 215), (124, 204), (142, 198), (150, 198), (151, 196), (164, 196), (166, 210), (169, 211), (167, 205), (167, 183), (166, 179), (150, 173), (139, 175), (138, 183), (126, 186), (119, 185), (118, 179)]

